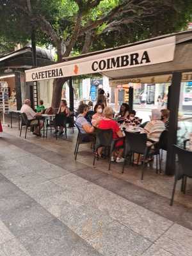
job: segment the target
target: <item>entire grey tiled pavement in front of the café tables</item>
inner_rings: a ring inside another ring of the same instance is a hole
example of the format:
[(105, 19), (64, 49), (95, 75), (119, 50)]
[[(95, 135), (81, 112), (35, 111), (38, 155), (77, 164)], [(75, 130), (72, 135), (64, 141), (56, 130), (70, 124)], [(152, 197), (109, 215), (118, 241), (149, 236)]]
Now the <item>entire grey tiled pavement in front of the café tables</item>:
[[(192, 255), (192, 186), (106, 161), (92, 168), (89, 147), (74, 161), (73, 142), (0, 138), (0, 256)], [(75, 138), (73, 134), (70, 138)]]

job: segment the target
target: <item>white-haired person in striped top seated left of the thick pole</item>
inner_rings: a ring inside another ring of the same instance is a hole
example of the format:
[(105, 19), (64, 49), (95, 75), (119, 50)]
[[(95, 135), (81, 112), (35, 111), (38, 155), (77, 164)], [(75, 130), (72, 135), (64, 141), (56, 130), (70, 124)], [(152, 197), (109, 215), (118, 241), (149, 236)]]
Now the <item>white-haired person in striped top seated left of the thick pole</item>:
[(150, 122), (144, 127), (144, 131), (147, 133), (147, 138), (154, 142), (159, 141), (161, 132), (165, 130), (163, 121), (161, 121), (161, 112), (159, 109), (152, 109), (152, 116)]

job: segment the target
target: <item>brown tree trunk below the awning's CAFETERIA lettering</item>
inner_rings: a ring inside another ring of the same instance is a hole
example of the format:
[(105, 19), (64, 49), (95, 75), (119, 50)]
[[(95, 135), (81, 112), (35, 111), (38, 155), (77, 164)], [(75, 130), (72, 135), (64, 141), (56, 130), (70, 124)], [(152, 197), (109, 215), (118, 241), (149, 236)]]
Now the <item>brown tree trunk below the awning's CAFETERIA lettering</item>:
[(68, 77), (61, 77), (61, 78), (56, 78), (53, 81), (51, 106), (54, 113), (56, 113), (57, 109), (60, 108), (62, 88), (63, 88), (63, 84), (67, 80), (68, 80)]

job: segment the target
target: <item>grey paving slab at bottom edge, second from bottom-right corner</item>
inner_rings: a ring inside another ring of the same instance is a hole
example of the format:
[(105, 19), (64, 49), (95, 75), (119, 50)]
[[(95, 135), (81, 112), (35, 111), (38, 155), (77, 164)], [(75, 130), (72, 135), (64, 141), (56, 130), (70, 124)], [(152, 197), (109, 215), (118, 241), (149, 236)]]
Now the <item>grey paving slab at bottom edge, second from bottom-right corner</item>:
[(101, 228), (86, 241), (106, 256), (138, 256), (152, 244), (116, 221), (109, 223), (107, 228)]

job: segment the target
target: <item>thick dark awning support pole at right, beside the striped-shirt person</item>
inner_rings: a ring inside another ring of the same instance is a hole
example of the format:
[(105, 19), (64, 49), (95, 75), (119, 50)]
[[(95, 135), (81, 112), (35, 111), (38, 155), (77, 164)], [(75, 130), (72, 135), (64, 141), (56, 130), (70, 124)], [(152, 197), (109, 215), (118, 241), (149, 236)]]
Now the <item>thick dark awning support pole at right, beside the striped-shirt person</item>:
[(169, 91), (169, 136), (168, 136), (168, 151), (166, 155), (166, 175), (175, 173), (175, 154), (173, 144), (177, 143), (177, 123), (180, 98), (180, 82), (182, 78), (181, 72), (173, 72), (172, 85)]

